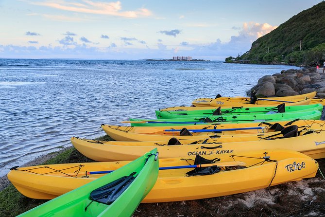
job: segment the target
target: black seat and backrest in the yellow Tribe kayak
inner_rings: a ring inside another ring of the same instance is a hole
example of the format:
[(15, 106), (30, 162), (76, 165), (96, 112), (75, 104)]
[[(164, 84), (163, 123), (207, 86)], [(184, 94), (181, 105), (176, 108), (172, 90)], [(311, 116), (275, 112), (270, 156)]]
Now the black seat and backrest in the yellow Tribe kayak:
[[(194, 160), (194, 165), (215, 163), (217, 161), (220, 161), (220, 159), (215, 158), (215, 159), (209, 160), (209, 159), (205, 159), (205, 158), (201, 157), (200, 155), (196, 155), (195, 160)], [(204, 175), (211, 175), (211, 174), (215, 174), (215, 173), (219, 173), (219, 172), (220, 172), (220, 167), (214, 165), (214, 166), (209, 166), (209, 167), (198, 167), (191, 171), (188, 171), (186, 174), (188, 176), (204, 176)]]

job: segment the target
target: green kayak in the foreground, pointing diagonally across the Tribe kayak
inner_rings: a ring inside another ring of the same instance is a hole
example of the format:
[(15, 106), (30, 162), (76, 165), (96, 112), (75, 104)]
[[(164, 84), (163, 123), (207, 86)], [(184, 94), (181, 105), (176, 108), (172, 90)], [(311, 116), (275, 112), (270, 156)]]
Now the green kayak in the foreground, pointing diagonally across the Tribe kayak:
[[(91, 181), (19, 216), (129, 217), (158, 177), (155, 148), (102, 178)], [(73, 177), (71, 178), (73, 179)], [(86, 179), (86, 178), (85, 178)], [(66, 183), (68, 185), (68, 183)]]

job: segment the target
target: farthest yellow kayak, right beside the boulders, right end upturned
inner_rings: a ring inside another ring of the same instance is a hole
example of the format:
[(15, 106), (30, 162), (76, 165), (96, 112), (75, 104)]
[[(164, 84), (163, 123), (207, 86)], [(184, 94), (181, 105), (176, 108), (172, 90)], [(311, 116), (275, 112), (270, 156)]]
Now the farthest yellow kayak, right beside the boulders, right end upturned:
[[(314, 98), (316, 96), (316, 91), (306, 93), (306, 94), (301, 94), (301, 95), (295, 95), (295, 96), (282, 96), (282, 97), (267, 97), (267, 98), (257, 98), (259, 100), (277, 100), (277, 101), (287, 101), (287, 100), (292, 100), (292, 99), (306, 99), (306, 98)], [(242, 97), (242, 96), (236, 96), (236, 97), (222, 97), (220, 94), (218, 94), (214, 99), (233, 99), (234, 101), (238, 100), (245, 100), (247, 102), (251, 101), (251, 98), (249, 97)], [(198, 98), (195, 99), (192, 104), (198, 107), (202, 106), (210, 106), (210, 102), (214, 100), (212, 98)]]

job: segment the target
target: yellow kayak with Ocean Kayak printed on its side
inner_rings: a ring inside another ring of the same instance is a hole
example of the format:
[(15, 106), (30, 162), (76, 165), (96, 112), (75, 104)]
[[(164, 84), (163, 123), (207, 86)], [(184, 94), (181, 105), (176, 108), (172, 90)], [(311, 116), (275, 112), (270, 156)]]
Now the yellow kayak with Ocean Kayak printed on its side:
[[(305, 129), (306, 128), (306, 129)], [(316, 129), (315, 129), (316, 128)], [(143, 152), (157, 148), (159, 158), (189, 157), (193, 155), (218, 155), (222, 153), (237, 154), (240, 151), (263, 148), (286, 148), (298, 151), (314, 159), (325, 158), (325, 127), (297, 127), (296, 132), (272, 137), (260, 133), (255, 141), (234, 139), (222, 142), (220, 138), (171, 139), (147, 142), (93, 141), (71, 138), (74, 147), (86, 157), (96, 161), (130, 161), (141, 156)], [(299, 132), (299, 133), (298, 133)], [(275, 133), (276, 134), (276, 133)], [(298, 135), (299, 134), (299, 135)], [(274, 134), (273, 134), (274, 135)], [(291, 136), (291, 137), (289, 137)], [(281, 138), (282, 137), (282, 138)], [(184, 138), (184, 137), (182, 137)]]

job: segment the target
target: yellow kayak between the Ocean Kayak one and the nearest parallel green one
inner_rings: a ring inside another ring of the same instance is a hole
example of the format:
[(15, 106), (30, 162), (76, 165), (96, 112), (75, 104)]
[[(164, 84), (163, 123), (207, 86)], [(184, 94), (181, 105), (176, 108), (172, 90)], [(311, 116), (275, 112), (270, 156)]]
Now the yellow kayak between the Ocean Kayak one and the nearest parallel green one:
[[(253, 123), (241, 123), (241, 124), (209, 124), (209, 125), (187, 125), (187, 126), (160, 126), (160, 127), (130, 127), (130, 126), (114, 126), (114, 125), (102, 125), (101, 128), (109, 135), (112, 139), (116, 141), (162, 141), (168, 140), (171, 137), (175, 137), (177, 139), (202, 139), (220, 136), (219, 133), (192, 133), (192, 135), (184, 135), (180, 132), (166, 132), (166, 129), (229, 129), (229, 128), (238, 128), (238, 127), (272, 127), (274, 124), (280, 124), (282, 126), (290, 126), (292, 124), (297, 125), (298, 127), (314, 127), (315, 129), (319, 129), (325, 125), (325, 121), (323, 120), (300, 120), (296, 119), (293, 121), (282, 121), (282, 122), (253, 122)], [(227, 131), (225, 131), (227, 132)], [(225, 134), (223, 132), (223, 134)], [(233, 134), (247, 134), (247, 132), (252, 133), (260, 133), (264, 132), (263, 130), (250, 130), (250, 131), (232, 131), (227, 132)], [(240, 137), (233, 135), (234, 140), (240, 141)], [(241, 136), (241, 135), (239, 135)], [(233, 140), (233, 141), (234, 141)]]

